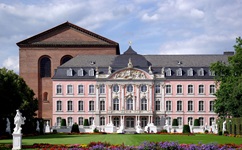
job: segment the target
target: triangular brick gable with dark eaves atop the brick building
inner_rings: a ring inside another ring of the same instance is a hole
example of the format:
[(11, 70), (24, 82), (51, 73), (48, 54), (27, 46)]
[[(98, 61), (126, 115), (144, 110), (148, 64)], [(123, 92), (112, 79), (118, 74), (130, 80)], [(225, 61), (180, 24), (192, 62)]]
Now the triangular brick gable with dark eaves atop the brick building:
[(17, 45), (19, 47), (116, 47), (118, 54), (120, 53), (119, 44), (117, 42), (88, 31), (70, 22), (65, 22), (47, 31), (18, 42)]

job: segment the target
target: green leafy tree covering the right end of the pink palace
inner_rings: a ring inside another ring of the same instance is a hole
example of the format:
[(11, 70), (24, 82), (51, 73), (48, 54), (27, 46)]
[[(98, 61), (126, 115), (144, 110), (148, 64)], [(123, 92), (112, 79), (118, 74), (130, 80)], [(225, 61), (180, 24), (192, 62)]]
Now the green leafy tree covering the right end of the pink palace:
[(220, 117), (242, 117), (242, 39), (236, 38), (235, 54), (228, 62), (216, 62), (210, 68), (215, 72), (215, 112)]

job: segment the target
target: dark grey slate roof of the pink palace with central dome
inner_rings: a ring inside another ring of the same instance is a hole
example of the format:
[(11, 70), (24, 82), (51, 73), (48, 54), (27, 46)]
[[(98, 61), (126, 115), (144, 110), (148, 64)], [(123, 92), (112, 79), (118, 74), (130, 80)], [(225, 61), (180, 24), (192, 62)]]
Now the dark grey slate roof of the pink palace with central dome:
[[(129, 61), (132, 62), (133, 68), (138, 68), (146, 72), (150, 72), (151, 66), (153, 74), (161, 74), (162, 70), (171, 70), (171, 76), (166, 76), (167, 79), (213, 79), (210, 75), (209, 66), (213, 62), (222, 61), (228, 62), (229, 55), (139, 55), (132, 47), (122, 55), (78, 55), (69, 60), (62, 66), (59, 66), (53, 79), (95, 79), (93, 76), (85, 74), (83, 77), (73, 76), (66, 77), (66, 70), (72, 68), (75, 72), (82, 68), (88, 72), (91, 68), (98, 67), (99, 74), (108, 74), (109, 66), (112, 68), (112, 73), (120, 69), (128, 68)], [(182, 76), (176, 75), (176, 70), (182, 69)], [(194, 73), (192, 76), (187, 74), (187, 70), (192, 68)], [(204, 69), (204, 76), (198, 75), (198, 70)]]

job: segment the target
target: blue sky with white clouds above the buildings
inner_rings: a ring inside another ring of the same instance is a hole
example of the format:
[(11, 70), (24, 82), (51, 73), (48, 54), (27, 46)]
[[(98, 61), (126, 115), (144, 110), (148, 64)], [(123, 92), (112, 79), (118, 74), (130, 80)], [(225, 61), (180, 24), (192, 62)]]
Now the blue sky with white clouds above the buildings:
[(241, 0), (0, 0), (0, 67), (16, 43), (69, 21), (140, 54), (222, 54), (242, 35)]

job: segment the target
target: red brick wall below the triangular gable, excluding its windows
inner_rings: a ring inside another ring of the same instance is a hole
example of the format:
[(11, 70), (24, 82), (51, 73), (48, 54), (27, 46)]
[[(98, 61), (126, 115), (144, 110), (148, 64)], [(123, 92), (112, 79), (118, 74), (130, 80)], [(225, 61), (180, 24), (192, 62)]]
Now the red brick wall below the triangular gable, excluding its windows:
[[(115, 55), (116, 48), (103, 47), (80, 47), (80, 48), (31, 48), (25, 47), (19, 50), (19, 68), (20, 76), (24, 78), (28, 86), (33, 89), (39, 100), (38, 117), (44, 119), (52, 118), (52, 80), (51, 78), (39, 77), (39, 59), (46, 55), (51, 60), (51, 77), (54, 70), (60, 65), (60, 60), (65, 55), (75, 57), (79, 54), (103, 54)], [(48, 101), (43, 102), (42, 96), (44, 92), (48, 92)]]

